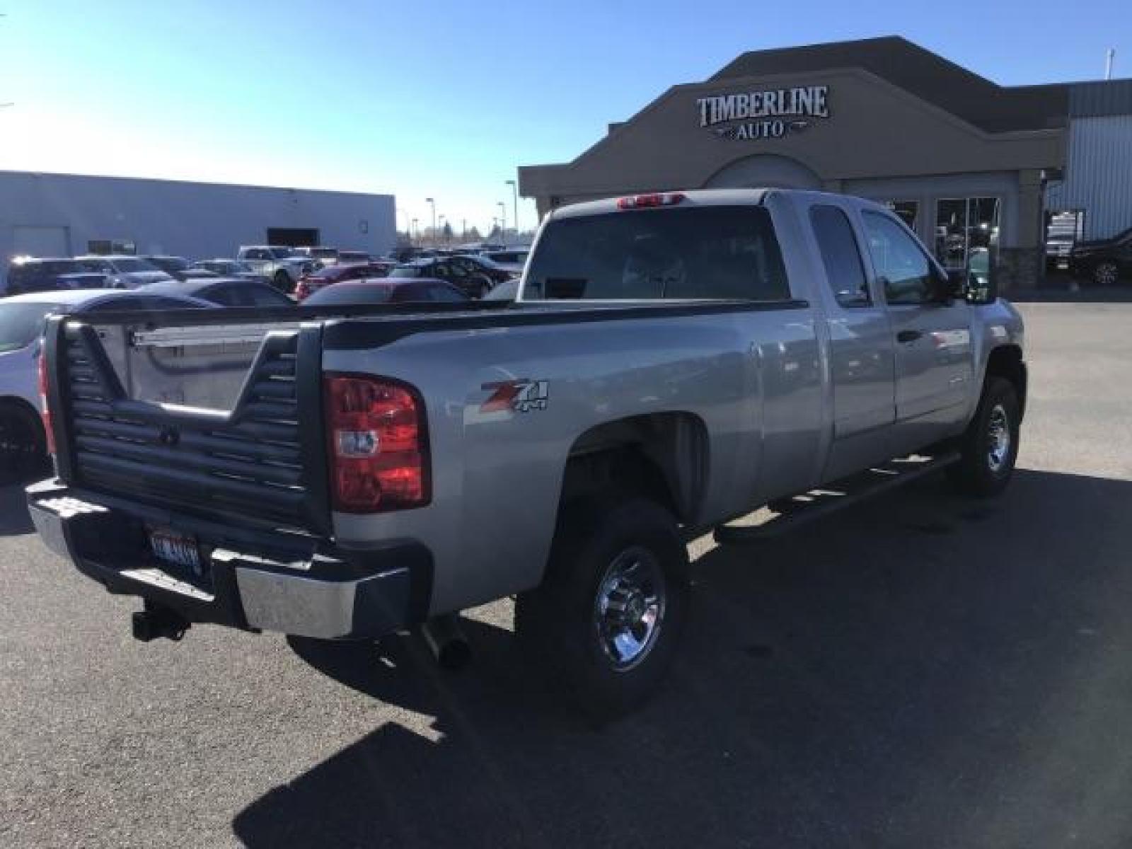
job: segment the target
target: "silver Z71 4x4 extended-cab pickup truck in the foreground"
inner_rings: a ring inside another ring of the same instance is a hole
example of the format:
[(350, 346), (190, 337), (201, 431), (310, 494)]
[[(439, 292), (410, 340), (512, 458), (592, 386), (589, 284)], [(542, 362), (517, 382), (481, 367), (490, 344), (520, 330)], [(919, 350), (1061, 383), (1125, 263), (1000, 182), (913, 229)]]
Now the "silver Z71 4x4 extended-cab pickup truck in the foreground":
[(946, 466), (997, 494), (1027, 389), (993, 278), (876, 204), (777, 189), (557, 209), (514, 305), (59, 317), (45, 349), (31, 513), (144, 599), (138, 637), (421, 627), (444, 657), (455, 612), (516, 595), (606, 717), (672, 658), (688, 539), (821, 515), (805, 494), (878, 466), (877, 491)]

